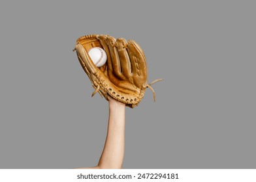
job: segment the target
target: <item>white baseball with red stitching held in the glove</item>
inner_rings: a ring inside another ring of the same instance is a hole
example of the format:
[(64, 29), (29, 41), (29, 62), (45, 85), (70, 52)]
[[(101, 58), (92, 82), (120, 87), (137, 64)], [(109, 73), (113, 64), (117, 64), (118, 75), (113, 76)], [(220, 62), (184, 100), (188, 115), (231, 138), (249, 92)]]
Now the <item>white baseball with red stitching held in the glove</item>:
[(89, 49), (88, 54), (98, 68), (106, 63), (106, 52), (101, 47), (93, 47)]

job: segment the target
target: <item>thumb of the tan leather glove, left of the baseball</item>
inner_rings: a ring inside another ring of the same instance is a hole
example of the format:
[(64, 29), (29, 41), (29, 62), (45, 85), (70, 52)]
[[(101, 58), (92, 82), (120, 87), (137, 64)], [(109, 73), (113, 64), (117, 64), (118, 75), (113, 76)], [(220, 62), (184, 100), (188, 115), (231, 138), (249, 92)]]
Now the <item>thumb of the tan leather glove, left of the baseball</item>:
[(89, 73), (95, 73), (95, 70), (98, 68), (95, 66), (91, 58), (89, 57), (86, 49), (84, 49), (83, 45), (76, 44), (75, 46), (76, 53), (78, 55), (80, 64), (83, 66), (84, 70), (88, 70)]

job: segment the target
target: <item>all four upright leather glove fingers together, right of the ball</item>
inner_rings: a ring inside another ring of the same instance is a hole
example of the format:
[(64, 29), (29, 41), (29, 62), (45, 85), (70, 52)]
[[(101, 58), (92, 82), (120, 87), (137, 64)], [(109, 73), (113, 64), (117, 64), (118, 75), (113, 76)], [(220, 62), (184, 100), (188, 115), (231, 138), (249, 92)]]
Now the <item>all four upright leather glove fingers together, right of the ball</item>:
[(146, 58), (140, 46), (135, 41), (129, 40), (127, 43), (124, 38), (116, 38), (112, 36), (100, 35), (103, 49), (106, 51), (108, 58), (108, 71), (114, 73), (119, 79), (125, 77), (138, 76), (145, 77)]

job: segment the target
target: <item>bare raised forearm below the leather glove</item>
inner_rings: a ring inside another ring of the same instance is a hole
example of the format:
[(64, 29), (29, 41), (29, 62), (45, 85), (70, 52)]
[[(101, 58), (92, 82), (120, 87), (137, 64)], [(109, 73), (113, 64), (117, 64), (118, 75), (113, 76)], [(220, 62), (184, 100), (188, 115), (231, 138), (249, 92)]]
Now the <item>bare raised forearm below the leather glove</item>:
[(125, 149), (125, 104), (108, 96), (108, 132), (99, 164), (91, 168), (121, 169)]

